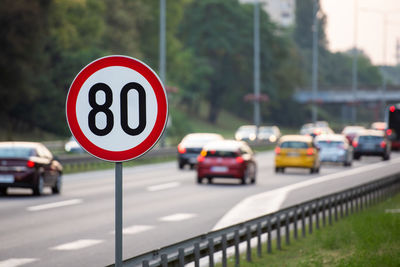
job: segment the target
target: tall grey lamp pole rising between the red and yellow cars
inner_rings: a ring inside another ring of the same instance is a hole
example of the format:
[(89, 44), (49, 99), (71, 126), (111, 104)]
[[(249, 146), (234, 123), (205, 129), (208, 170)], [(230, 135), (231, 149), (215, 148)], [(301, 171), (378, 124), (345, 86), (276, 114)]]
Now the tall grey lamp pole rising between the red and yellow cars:
[(254, 1), (254, 124), (260, 127), (260, 3)]

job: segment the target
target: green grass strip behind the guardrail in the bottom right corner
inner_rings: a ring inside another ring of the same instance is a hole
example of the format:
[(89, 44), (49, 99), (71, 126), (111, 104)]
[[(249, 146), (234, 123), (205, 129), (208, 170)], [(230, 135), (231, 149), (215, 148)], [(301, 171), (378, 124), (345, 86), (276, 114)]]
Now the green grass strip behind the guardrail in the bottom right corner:
[[(267, 254), (262, 248), (259, 258), (256, 249), (252, 252), (252, 262), (246, 262), (241, 255), (241, 267), (391, 267), (400, 266), (400, 194), (334, 222), (313, 234), (298, 240), (291, 238), (291, 244)], [(265, 245), (265, 244), (264, 244)], [(221, 265), (218, 265), (221, 266)], [(234, 266), (234, 258), (229, 258), (228, 266)]]

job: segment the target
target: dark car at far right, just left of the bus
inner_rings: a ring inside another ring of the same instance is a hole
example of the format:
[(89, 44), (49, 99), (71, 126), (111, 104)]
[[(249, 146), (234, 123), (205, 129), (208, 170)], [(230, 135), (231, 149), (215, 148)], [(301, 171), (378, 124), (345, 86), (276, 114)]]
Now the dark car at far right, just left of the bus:
[(361, 156), (381, 156), (383, 160), (390, 159), (390, 140), (383, 131), (365, 130), (353, 140), (354, 159)]

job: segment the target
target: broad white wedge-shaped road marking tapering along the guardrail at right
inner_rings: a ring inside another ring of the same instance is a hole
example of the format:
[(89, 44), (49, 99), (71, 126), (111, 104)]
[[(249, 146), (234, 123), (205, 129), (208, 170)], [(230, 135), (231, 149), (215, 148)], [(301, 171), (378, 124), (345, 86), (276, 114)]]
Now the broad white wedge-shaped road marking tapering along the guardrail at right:
[(370, 164), (355, 169), (328, 174), (320, 176), (315, 179), (310, 179), (304, 182), (291, 184), (281, 188), (277, 188), (271, 191), (267, 191), (261, 194), (247, 197), (243, 199), (239, 204), (233, 207), (228, 213), (226, 213), (214, 226), (212, 230), (221, 229), (233, 224), (241, 223), (259, 216), (266, 215), (278, 211), (285, 201), (287, 195), (292, 190), (300, 189), (310, 185), (323, 183), (335, 179), (340, 179), (349, 175), (354, 175), (362, 172), (368, 172), (376, 168), (385, 166), (387, 164), (399, 163), (400, 158), (391, 160), (390, 162), (379, 162)]

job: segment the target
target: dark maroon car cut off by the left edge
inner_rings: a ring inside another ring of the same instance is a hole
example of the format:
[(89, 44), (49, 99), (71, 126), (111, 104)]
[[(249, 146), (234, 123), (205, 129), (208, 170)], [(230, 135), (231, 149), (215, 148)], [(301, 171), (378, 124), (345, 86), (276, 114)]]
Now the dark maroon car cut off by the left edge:
[(0, 142), (1, 194), (7, 194), (10, 187), (21, 187), (41, 195), (46, 186), (53, 194), (59, 194), (62, 170), (61, 163), (41, 143)]

